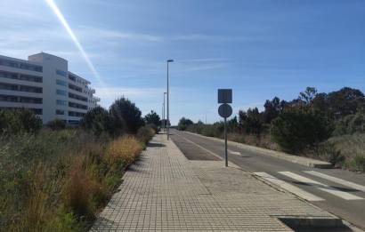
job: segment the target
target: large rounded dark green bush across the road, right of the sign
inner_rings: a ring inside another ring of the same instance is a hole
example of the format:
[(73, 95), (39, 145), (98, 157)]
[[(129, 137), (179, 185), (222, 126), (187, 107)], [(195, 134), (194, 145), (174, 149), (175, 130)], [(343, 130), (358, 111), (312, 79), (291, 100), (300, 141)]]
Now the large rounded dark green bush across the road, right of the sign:
[(285, 110), (272, 121), (272, 139), (284, 151), (295, 154), (304, 148), (318, 148), (331, 132), (332, 126), (325, 116), (304, 108)]

